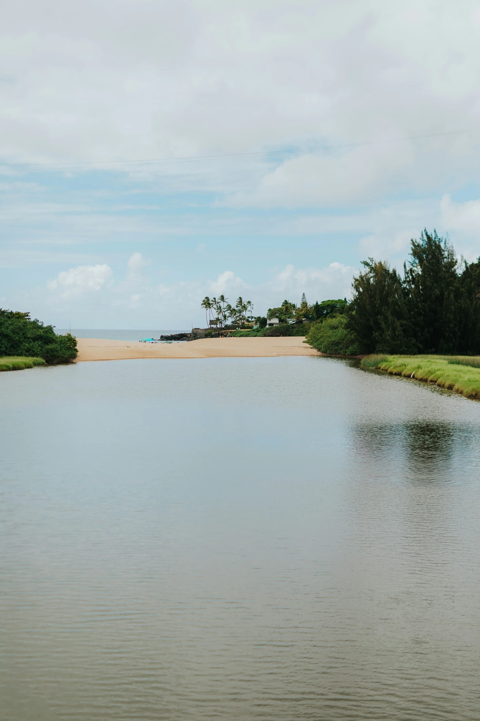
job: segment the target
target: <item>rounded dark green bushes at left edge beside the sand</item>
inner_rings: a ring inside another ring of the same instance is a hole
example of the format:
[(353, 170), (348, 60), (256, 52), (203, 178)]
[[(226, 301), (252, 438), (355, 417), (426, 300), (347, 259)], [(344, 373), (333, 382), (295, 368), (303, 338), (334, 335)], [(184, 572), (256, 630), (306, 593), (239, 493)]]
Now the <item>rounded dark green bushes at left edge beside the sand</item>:
[(68, 363), (77, 356), (76, 338), (56, 335), (51, 325), (32, 320), (30, 313), (0, 309), (0, 358), (5, 355), (43, 358), (47, 363)]

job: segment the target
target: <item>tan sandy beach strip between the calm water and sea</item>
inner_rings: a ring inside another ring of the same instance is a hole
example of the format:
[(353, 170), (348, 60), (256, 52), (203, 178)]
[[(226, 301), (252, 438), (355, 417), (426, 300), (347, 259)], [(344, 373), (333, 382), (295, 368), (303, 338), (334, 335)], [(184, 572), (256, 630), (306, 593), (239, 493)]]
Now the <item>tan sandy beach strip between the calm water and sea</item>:
[(78, 338), (77, 361), (125, 361), (130, 358), (272, 358), (319, 355), (304, 337), (206, 338), (184, 343), (139, 343)]

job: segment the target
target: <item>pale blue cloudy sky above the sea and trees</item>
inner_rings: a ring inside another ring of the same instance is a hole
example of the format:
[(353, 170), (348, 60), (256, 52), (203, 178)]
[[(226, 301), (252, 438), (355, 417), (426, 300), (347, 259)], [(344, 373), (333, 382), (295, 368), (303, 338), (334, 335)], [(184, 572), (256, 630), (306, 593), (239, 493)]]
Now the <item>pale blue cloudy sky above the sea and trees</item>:
[(0, 58), (0, 307), (189, 329), (480, 256), (478, 2), (17, 0)]

